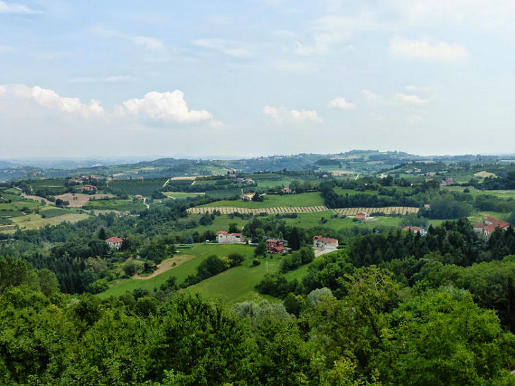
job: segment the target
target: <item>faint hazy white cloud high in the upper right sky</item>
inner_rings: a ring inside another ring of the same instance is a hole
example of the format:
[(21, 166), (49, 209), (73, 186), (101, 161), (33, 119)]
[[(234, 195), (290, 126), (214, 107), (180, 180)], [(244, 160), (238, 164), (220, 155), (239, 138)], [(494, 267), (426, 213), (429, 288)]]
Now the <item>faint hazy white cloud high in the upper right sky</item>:
[(444, 41), (408, 40), (393, 38), (389, 51), (394, 56), (408, 59), (431, 60), (437, 62), (457, 62), (468, 58), (464, 45), (451, 45)]

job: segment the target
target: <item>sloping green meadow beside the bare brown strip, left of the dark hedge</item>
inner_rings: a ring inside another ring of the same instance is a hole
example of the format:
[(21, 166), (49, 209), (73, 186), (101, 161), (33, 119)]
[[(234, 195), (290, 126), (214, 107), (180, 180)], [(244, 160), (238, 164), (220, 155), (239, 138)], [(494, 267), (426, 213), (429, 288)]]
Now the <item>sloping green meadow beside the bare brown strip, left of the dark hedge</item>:
[[(219, 244), (196, 244), (192, 249), (179, 249), (179, 253), (176, 256), (184, 256), (184, 255), (193, 255), (196, 256), (193, 260), (185, 262), (176, 268), (170, 269), (161, 275), (157, 275), (156, 277), (152, 277), (150, 280), (135, 280), (135, 279), (125, 279), (120, 280), (111, 285), (107, 291), (98, 294), (99, 297), (109, 297), (111, 295), (119, 296), (125, 293), (126, 291), (133, 291), (135, 288), (143, 288), (148, 291), (153, 291), (154, 288), (159, 288), (161, 284), (163, 284), (168, 277), (174, 276), (177, 279), (177, 283), (181, 284), (187, 275), (195, 274), (196, 267), (198, 264), (207, 258), (210, 255), (216, 255), (219, 257), (227, 256), (230, 252), (238, 252), (242, 253), (246, 257), (243, 262), (243, 265), (250, 265), (250, 262), (253, 259), (254, 249), (248, 245), (219, 245)], [(250, 259), (250, 260), (249, 260)], [(268, 259), (269, 260), (269, 259)], [(278, 261), (278, 258), (276, 258)], [(273, 260), (269, 260), (272, 261)], [(276, 263), (278, 264), (278, 262)], [(255, 268), (255, 274), (258, 274), (260, 271), (263, 271), (262, 275), (264, 275), (264, 270), (266, 264), (261, 264), (260, 266)], [(243, 267), (236, 267), (232, 269), (241, 269)], [(229, 269), (231, 271), (232, 269)], [(270, 264), (268, 269), (270, 269)], [(225, 273), (227, 273), (226, 271)], [(220, 274), (221, 275), (221, 274)], [(212, 279), (212, 278), (211, 278)], [(209, 280), (209, 279), (208, 279)], [(202, 284), (202, 283), (199, 283)], [(196, 284), (196, 285), (199, 285)]]

